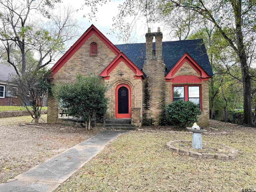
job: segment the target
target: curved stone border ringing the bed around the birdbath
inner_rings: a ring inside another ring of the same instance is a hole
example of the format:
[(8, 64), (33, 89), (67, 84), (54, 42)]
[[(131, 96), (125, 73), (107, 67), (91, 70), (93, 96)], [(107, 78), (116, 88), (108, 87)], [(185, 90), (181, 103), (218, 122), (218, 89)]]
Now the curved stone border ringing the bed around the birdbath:
[[(214, 143), (214, 144), (222, 145), (222, 146), (228, 148), (230, 150), (230, 153), (228, 155), (218, 154), (218, 153), (216, 153), (216, 154), (198, 153), (198, 152), (194, 152), (194, 151), (182, 150), (182, 149), (172, 146), (172, 143), (174, 143), (174, 142), (190, 142), (190, 141), (178, 141), (178, 140), (169, 141), (166, 143), (166, 147), (171, 152), (185, 154), (185, 155), (188, 155), (190, 157), (195, 157), (195, 158), (216, 158), (216, 159), (220, 159), (220, 160), (232, 160), (232, 159), (235, 159), (238, 154), (238, 150), (236, 150), (228, 145), (224, 145), (224, 144), (220, 144), (220, 143)], [(204, 143), (213, 143), (213, 142), (204, 142)]]

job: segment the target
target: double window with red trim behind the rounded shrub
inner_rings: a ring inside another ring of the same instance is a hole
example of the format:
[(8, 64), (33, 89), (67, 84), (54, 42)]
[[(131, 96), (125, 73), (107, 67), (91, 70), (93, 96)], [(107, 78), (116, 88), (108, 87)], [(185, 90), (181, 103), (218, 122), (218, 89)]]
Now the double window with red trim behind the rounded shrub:
[(200, 85), (173, 85), (172, 101), (191, 101), (201, 108), (201, 86)]

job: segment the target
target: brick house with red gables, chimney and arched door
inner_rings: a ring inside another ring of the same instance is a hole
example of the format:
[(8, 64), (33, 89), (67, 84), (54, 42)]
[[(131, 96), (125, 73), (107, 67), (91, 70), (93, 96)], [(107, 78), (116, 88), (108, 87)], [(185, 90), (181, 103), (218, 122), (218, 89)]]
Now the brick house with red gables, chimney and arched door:
[[(160, 28), (145, 36), (146, 44), (113, 45), (92, 25), (52, 67), (53, 82), (73, 82), (78, 73), (94, 72), (111, 85), (108, 119), (165, 124), (165, 107), (182, 99), (198, 104), (198, 124), (208, 126), (208, 80), (213, 74), (202, 39), (162, 42)], [(48, 97), (48, 122), (58, 122), (53, 96)]]

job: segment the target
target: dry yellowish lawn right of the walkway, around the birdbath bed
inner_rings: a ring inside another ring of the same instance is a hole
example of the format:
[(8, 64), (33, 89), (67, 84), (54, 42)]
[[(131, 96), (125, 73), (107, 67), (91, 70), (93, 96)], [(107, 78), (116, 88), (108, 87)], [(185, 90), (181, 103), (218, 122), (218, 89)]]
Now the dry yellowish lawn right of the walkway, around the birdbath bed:
[(238, 149), (235, 160), (196, 159), (166, 149), (166, 142), (192, 140), (192, 134), (132, 132), (109, 144), (56, 192), (255, 191), (256, 129), (214, 122), (211, 123), (215, 128), (230, 134), (205, 134), (203, 142), (222, 143)]

